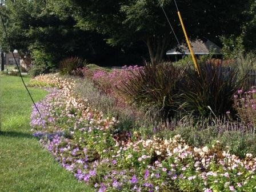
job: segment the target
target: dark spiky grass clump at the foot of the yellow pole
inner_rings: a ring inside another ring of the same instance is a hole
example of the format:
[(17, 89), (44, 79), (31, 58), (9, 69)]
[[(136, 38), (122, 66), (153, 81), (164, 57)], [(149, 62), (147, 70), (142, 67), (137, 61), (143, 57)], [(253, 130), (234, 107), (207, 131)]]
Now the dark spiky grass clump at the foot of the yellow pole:
[(243, 87), (245, 78), (238, 79), (238, 70), (229, 70), (209, 61), (199, 63), (201, 75), (187, 70), (183, 86), (182, 109), (185, 113), (207, 117), (234, 111), (234, 94)]

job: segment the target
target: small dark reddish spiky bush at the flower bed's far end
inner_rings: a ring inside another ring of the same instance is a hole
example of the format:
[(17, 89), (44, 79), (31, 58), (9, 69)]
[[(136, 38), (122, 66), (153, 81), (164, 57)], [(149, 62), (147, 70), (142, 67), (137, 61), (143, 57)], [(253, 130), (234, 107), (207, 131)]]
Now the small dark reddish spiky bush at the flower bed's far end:
[(63, 59), (59, 63), (59, 73), (62, 75), (71, 75), (72, 71), (86, 66), (86, 61), (78, 57)]

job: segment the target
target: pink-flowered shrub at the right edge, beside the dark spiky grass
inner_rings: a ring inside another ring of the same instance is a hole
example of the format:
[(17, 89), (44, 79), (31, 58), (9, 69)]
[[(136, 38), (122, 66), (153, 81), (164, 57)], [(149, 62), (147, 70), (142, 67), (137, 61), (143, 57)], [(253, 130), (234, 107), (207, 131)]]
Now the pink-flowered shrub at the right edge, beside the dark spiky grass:
[(238, 90), (234, 95), (235, 107), (243, 121), (256, 128), (256, 87), (250, 91)]

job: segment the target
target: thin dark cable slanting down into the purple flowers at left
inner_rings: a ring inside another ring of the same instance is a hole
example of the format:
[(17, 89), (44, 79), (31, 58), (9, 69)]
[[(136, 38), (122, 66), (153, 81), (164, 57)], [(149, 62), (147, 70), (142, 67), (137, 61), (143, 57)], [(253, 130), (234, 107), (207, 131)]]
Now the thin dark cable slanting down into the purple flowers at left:
[[(9, 46), (10, 46), (10, 49), (11, 49), (11, 42), (10, 42), (9, 36), (8, 36), (8, 34), (7, 34), (7, 31), (6, 31), (5, 23), (3, 22), (3, 16), (2, 16), (2, 13), (1, 13), (1, 9), (0, 9), (0, 16), (1, 16), (1, 20), (2, 20), (3, 30), (5, 31), (5, 35), (6, 35), (6, 38), (7, 38), (7, 42), (9, 43)], [(41, 113), (40, 113), (40, 111), (39, 111), (37, 105), (35, 105), (34, 99), (32, 98), (32, 96), (31, 96), (31, 94), (30, 94), (30, 92), (29, 92), (29, 89), (27, 89), (27, 86), (26, 86), (26, 84), (25, 84), (25, 82), (24, 82), (24, 80), (23, 80), (23, 77), (22, 77), (22, 75), (21, 75), (21, 70), (19, 69), (19, 65), (18, 65), (18, 63), (17, 63), (17, 60), (16, 60), (16, 58), (15, 58), (15, 56), (14, 56), (13, 51), (11, 51), (11, 53), (13, 54), (13, 58), (14, 58), (15, 64), (16, 64), (16, 66), (17, 66), (17, 68), (18, 68), (19, 75), (21, 76), (21, 79), (22, 79), (22, 83), (23, 83), (23, 85), (25, 86), (25, 88), (26, 88), (26, 90), (27, 90), (27, 93), (29, 93), (29, 97), (30, 97), (31, 101), (33, 102), (33, 105), (35, 106), (35, 109), (37, 109), (38, 114), (39, 114), (39, 117), (41, 118), (41, 123), (42, 123), (42, 128), (43, 128), (43, 118), (42, 118), (42, 115), (41, 115)]]

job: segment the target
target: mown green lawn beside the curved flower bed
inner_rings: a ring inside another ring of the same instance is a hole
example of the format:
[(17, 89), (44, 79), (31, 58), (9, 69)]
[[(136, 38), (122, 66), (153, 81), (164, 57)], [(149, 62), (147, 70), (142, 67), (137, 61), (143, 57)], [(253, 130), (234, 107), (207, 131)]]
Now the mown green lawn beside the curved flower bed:
[[(29, 78), (25, 78), (29, 82)], [(47, 93), (30, 88), (35, 101)], [(0, 75), (0, 191), (92, 191), (31, 136), (31, 100), (19, 77)]]

